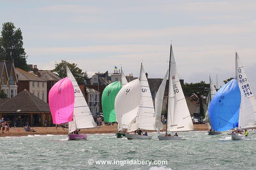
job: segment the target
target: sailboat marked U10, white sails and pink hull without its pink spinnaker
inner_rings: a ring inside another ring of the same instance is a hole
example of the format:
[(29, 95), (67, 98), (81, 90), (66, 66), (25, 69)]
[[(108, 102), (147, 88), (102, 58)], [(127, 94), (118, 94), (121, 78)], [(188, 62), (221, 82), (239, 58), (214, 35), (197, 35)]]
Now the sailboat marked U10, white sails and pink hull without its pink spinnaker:
[(84, 95), (78, 86), (76, 79), (66, 65), (67, 77), (71, 80), (73, 85), (73, 91), (75, 93), (73, 121), (68, 122), (68, 138), (73, 139), (86, 139), (86, 134), (71, 134), (76, 129), (90, 129), (96, 128), (97, 125), (94, 122), (90, 108), (84, 99)]

